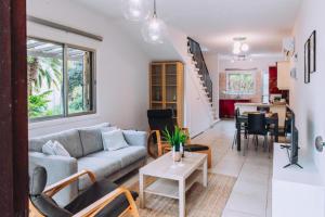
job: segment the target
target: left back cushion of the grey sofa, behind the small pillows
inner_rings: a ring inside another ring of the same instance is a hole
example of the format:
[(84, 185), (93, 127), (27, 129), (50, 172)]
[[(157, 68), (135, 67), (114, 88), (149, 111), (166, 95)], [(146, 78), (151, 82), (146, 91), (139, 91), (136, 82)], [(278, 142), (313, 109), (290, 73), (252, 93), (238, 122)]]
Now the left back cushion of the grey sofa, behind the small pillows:
[(77, 129), (32, 138), (29, 140), (29, 151), (42, 152), (43, 144), (49, 140), (58, 141), (73, 157), (79, 158), (82, 156), (82, 145)]

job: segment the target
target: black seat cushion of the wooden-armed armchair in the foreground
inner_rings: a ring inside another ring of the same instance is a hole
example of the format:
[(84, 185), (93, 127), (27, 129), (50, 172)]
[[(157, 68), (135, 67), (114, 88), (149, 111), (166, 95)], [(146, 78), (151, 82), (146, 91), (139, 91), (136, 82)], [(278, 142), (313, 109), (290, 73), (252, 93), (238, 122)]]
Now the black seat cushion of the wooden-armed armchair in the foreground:
[[(69, 210), (73, 214), (77, 214), (81, 209), (88, 207), (93, 202), (100, 200), (101, 197), (105, 196), (107, 193), (114, 191), (117, 189), (118, 186), (104, 179), (102, 181), (98, 181), (93, 183), (89, 189), (87, 189), (84, 192), (79, 194), (72, 203), (69, 203), (65, 208)], [(134, 201), (138, 197), (136, 192), (132, 192), (132, 197)], [(105, 208), (103, 208), (96, 217), (104, 217), (104, 216), (110, 216), (110, 217), (117, 217), (126, 208), (128, 208), (129, 202), (125, 194), (119, 195), (116, 197), (112, 203), (109, 203)]]

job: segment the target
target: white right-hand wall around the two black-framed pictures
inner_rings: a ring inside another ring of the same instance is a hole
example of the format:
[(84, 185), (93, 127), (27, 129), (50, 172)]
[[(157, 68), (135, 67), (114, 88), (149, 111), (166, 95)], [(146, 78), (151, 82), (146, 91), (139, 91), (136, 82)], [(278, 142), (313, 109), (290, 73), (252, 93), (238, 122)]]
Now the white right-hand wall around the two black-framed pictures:
[[(294, 35), (298, 53), (297, 79), (291, 79), (290, 105), (296, 113), (296, 125), (299, 129), (299, 145), (308, 149), (325, 180), (325, 152), (318, 153), (314, 148), (316, 136), (325, 138), (325, 1), (303, 0)], [(311, 75), (311, 82), (303, 82), (304, 42), (313, 30), (316, 38), (316, 73)]]

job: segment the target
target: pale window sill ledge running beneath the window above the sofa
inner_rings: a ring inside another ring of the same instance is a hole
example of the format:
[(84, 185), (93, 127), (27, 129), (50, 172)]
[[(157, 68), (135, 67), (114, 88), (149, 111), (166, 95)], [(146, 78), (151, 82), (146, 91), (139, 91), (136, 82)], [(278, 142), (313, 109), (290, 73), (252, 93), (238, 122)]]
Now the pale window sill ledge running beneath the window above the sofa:
[(98, 113), (95, 113), (95, 114), (89, 114), (89, 115), (82, 115), (82, 116), (62, 117), (62, 118), (57, 118), (57, 119), (49, 119), (49, 120), (29, 123), (28, 129), (31, 130), (31, 129), (39, 129), (39, 128), (43, 128), (43, 127), (52, 127), (52, 126), (57, 126), (57, 125), (98, 119), (99, 117), (100, 117), (100, 115)]

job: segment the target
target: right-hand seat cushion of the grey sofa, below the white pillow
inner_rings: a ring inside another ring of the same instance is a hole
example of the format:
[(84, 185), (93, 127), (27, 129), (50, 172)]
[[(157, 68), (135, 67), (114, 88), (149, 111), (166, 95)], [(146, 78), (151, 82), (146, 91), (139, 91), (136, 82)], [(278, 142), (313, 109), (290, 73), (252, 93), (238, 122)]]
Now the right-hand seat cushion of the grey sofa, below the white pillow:
[(89, 155), (91, 157), (104, 159), (117, 159), (121, 167), (125, 168), (130, 164), (146, 156), (146, 149), (144, 146), (128, 146), (116, 151), (103, 151)]

